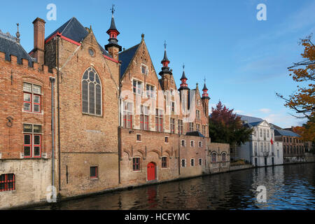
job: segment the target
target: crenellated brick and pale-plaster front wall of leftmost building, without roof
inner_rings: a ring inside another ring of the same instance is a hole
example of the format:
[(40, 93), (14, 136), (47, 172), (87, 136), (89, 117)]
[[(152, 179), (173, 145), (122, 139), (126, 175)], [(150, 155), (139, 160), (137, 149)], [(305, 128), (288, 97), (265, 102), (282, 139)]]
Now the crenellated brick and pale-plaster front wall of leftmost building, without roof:
[[(52, 183), (50, 77), (55, 77), (55, 69), (52, 71), (48, 72), (48, 66), (40, 69), (36, 62), (29, 67), (27, 59), (18, 64), (14, 55), (7, 61), (0, 52), (0, 175), (15, 175), (15, 188), (0, 192), (0, 208), (43, 201)], [(23, 83), (41, 87), (38, 112), (25, 110)], [(41, 145), (36, 158), (34, 134), (26, 133), (24, 124), (41, 126), (41, 133), (36, 134)], [(25, 155), (25, 135), (31, 141), (29, 158)]]

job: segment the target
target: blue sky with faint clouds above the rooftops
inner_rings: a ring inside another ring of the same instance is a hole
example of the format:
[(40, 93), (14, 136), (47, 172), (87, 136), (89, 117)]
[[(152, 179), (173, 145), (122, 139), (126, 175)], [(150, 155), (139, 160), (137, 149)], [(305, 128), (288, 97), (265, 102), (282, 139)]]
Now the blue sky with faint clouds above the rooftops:
[[(46, 20), (48, 3), (57, 6), (56, 21)], [(281, 127), (304, 122), (290, 116), (294, 112), (275, 93), (288, 95), (297, 89), (286, 68), (301, 60), (299, 39), (315, 34), (315, 0), (4, 1), (0, 29), (15, 34), (15, 23), (20, 22), (21, 43), (29, 52), (31, 22), (36, 17), (46, 20), (48, 36), (74, 16), (83, 26), (92, 25), (97, 40), (105, 45), (112, 3), (120, 45), (130, 48), (144, 33), (157, 73), (166, 40), (177, 85), (185, 63), (190, 88), (196, 83), (202, 87), (206, 76), (211, 106), (221, 99), (237, 113), (265, 118)], [(256, 19), (258, 3), (267, 6), (266, 21)]]

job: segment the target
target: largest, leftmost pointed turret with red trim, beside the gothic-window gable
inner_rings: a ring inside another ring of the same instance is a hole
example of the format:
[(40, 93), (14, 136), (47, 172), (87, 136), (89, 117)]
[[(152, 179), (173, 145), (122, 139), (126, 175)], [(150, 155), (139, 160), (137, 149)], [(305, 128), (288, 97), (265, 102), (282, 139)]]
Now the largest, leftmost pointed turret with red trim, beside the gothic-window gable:
[(109, 43), (105, 45), (105, 50), (109, 51), (109, 55), (111, 55), (113, 59), (118, 60), (118, 52), (120, 52), (122, 48), (120, 45), (118, 45), (117, 36), (120, 34), (120, 32), (115, 25), (115, 19), (113, 17), (114, 11), (115, 9), (113, 5), (113, 7), (111, 8), (111, 27), (109, 27), (109, 30), (106, 31), (106, 33), (109, 34)]

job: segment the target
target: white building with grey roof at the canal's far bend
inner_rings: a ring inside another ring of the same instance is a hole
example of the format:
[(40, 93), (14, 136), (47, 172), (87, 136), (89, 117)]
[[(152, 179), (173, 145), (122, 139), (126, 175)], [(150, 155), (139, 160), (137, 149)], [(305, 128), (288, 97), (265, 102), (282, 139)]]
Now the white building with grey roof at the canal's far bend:
[(235, 151), (235, 160), (244, 159), (256, 167), (283, 164), (281, 141), (274, 140), (274, 130), (266, 120), (239, 116), (246, 127), (253, 128), (251, 140)]

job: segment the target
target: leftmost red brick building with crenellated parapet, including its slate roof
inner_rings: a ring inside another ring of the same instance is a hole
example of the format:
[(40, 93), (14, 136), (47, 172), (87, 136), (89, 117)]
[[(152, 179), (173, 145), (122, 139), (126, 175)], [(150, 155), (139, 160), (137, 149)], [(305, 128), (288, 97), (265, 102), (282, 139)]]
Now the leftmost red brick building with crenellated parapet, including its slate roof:
[(0, 208), (40, 202), (52, 185), (51, 89), (56, 72), (30, 57), (19, 36), (0, 32)]

